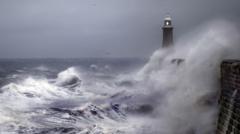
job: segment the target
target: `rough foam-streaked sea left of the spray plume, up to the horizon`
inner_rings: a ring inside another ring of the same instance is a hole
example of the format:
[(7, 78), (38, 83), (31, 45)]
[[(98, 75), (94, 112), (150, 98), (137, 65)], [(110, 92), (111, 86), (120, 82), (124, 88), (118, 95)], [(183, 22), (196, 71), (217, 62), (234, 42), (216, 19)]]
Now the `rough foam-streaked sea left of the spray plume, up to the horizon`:
[(128, 116), (151, 107), (128, 106), (131, 95), (126, 91), (133, 82), (124, 76), (145, 63), (145, 59), (2, 59), (0, 133), (131, 133), (134, 127)]

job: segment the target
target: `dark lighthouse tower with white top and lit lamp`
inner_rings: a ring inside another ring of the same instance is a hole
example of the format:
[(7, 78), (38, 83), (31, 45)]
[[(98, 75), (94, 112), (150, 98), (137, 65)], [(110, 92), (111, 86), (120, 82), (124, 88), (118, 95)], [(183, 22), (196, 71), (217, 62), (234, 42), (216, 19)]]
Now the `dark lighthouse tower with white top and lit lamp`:
[(168, 15), (164, 19), (164, 25), (162, 27), (163, 30), (163, 42), (162, 47), (169, 47), (173, 45), (173, 26), (172, 26), (172, 19)]

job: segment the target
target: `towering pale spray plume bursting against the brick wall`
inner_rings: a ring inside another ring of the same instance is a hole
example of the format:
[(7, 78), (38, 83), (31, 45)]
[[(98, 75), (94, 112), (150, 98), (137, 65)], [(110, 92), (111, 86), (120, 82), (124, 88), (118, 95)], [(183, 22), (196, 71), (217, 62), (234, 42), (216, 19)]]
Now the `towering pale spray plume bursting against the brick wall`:
[(239, 56), (239, 33), (227, 21), (213, 21), (192, 33), (174, 47), (157, 50), (138, 73), (151, 99), (161, 94), (155, 96), (160, 101), (155, 101), (153, 133), (214, 133), (219, 67), (223, 59)]

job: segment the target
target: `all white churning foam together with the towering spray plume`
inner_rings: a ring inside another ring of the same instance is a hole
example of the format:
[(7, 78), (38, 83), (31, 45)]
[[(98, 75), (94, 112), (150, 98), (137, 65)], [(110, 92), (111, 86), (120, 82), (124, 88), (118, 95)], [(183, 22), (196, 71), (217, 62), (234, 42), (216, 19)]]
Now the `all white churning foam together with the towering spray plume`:
[[(25, 112), (57, 99), (72, 99), (82, 104), (77, 107), (79, 109), (74, 110), (86, 110), (84, 104), (88, 106), (87, 104), (92, 103), (99, 104), (105, 110), (105, 107), (109, 107), (109, 101), (115, 102), (116, 99), (116, 102), (125, 108), (150, 104), (153, 111), (141, 116), (127, 115), (123, 122), (106, 118), (118, 118), (113, 111), (104, 113), (104, 110), (100, 110), (101, 116), (105, 117), (102, 120), (88, 112), (89, 121), (84, 119), (85, 122), (77, 122), (78, 127), (85, 128), (86, 132), (106, 134), (118, 130), (119, 133), (123, 131), (129, 134), (212, 133), (217, 108), (211, 98), (214, 98), (219, 89), (219, 64), (226, 57), (239, 56), (237, 50), (239, 51), (240, 47), (239, 44), (236, 45), (239, 34), (231, 23), (215, 21), (186, 37), (177, 41), (172, 48), (157, 50), (138, 73), (120, 75), (111, 81), (98, 81), (95, 78), (84, 80), (77, 68), (70, 67), (58, 74), (56, 83), (49, 82), (46, 78), (33, 77), (10, 83), (1, 88), (3, 93), (0, 96), (0, 125), (11, 122), (15, 125), (34, 126), (36, 124), (30, 119), (34, 114), (38, 117), (38, 113)], [(177, 65), (172, 63), (175, 58), (184, 61)], [(78, 87), (81, 94), (68, 91), (65, 86), (74, 79), (87, 81), (87, 84)], [(114, 83), (115, 80), (126, 81), (127, 84), (119, 86)], [(116, 95), (118, 93), (119, 95)], [(111, 95), (117, 97), (110, 99)], [(69, 118), (70, 115), (64, 114), (63, 117)], [(47, 119), (44, 120), (45, 118)], [(55, 116), (45, 118), (42, 120), (49, 121), (50, 124), (64, 120)], [(90, 125), (95, 127), (89, 127)]]

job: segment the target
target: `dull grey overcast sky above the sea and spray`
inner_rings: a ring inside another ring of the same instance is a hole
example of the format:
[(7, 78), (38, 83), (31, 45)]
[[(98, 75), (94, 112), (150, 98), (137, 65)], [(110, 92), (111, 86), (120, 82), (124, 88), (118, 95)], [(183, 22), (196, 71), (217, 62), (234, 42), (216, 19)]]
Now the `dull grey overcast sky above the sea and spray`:
[(148, 57), (167, 13), (177, 39), (212, 19), (240, 23), (240, 0), (0, 0), (0, 58)]

